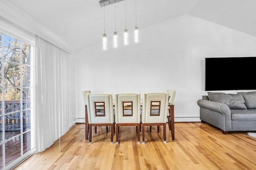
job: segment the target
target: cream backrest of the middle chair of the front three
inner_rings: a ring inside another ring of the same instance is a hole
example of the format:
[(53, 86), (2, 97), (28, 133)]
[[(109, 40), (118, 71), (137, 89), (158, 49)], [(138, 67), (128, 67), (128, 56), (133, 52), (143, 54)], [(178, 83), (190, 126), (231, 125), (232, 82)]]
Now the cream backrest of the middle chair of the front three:
[(115, 121), (116, 123), (140, 123), (140, 94), (116, 94)]

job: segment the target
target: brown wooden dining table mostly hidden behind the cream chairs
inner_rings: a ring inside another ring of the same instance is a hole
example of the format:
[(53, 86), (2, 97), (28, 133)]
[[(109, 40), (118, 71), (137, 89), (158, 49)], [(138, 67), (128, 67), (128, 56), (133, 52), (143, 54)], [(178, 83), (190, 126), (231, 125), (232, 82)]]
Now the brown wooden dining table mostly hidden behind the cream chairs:
[[(113, 102), (114, 107), (114, 102)], [(142, 102), (140, 104), (140, 108), (142, 109)], [(174, 105), (168, 103), (168, 115), (167, 115), (167, 121), (168, 121), (168, 127), (169, 131), (171, 131), (172, 140), (174, 140)], [(88, 134), (89, 134), (89, 122), (88, 122), (88, 111), (87, 111), (87, 105), (85, 105), (85, 139), (88, 140)]]

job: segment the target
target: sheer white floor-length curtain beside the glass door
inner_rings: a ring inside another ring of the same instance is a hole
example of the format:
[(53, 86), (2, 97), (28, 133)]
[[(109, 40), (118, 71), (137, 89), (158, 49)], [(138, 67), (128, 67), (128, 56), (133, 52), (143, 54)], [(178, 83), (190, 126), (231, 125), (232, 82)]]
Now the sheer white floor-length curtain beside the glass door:
[(36, 153), (69, 129), (68, 53), (36, 36)]

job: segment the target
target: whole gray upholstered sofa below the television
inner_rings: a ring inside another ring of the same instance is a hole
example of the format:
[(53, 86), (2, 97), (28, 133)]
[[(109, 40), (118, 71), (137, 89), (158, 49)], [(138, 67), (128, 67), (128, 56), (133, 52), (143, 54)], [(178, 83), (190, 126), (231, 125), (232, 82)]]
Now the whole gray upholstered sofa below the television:
[(225, 94), (208, 92), (197, 102), (202, 123), (222, 130), (256, 131), (256, 92)]

